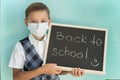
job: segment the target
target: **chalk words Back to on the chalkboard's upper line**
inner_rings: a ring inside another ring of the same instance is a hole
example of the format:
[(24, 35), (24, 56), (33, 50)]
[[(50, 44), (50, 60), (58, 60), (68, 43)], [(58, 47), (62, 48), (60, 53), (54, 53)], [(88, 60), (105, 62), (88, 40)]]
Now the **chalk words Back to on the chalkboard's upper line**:
[(62, 32), (56, 33), (56, 39), (57, 40), (66, 40), (69, 42), (81, 43), (81, 44), (88, 44), (90, 42), (91, 44), (96, 45), (96, 46), (101, 46), (103, 43), (100, 38), (96, 39), (96, 35), (93, 35), (92, 40), (87, 42), (88, 37), (84, 34), (73, 37), (72, 35), (64, 35)]

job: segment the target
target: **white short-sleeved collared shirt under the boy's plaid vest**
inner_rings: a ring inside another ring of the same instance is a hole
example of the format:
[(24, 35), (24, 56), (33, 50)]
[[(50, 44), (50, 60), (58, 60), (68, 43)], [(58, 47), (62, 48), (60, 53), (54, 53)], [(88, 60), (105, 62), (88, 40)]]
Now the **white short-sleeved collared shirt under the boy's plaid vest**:
[[(45, 41), (46, 36), (43, 40), (36, 40), (32, 34), (29, 35), (29, 40), (31, 44), (34, 46), (35, 50), (39, 54), (40, 58), (43, 60), (44, 57), (44, 49), (45, 49)], [(15, 48), (13, 49), (11, 59), (9, 62), (9, 67), (22, 69), (25, 63), (25, 52), (20, 42), (17, 42)]]

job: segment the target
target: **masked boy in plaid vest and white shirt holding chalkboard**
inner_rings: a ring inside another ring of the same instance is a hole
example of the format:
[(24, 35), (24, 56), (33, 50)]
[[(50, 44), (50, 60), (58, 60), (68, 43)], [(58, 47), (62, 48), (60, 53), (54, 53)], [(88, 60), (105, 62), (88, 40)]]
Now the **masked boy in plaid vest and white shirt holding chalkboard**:
[(42, 65), (46, 32), (51, 22), (48, 7), (43, 3), (32, 3), (26, 9), (25, 17), (30, 35), (17, 42), (13, 50), (9, 67), (13, 68), (14, 80), (60, 80), (59, 74), (83, 75), (80, 68), (65, 72), (54, 63)]

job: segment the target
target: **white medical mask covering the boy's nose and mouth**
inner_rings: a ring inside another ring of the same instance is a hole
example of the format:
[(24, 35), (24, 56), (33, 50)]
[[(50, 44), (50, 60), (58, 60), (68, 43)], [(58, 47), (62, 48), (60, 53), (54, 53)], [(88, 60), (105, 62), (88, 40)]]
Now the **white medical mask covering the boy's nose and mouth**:
[(28, 23), (28, 29), (33, 35), (42, 37), (47, 33), (48, 23)]

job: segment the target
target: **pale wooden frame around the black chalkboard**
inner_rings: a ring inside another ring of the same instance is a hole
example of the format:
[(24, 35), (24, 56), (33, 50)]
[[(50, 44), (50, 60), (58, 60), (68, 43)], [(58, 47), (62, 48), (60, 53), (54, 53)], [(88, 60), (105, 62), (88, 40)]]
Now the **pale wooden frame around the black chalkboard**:
[[(87, 26), (68, 25), (68, 24), (59, 24), (59, 23), (52, 23), (51, 26), (49, 27), (49, 31), (48, 31), (48, 35), (47, 35), (47, 42), (46, 42), (46, 48), (45, 48), (45, 55), (44, 55), (43, 64), (46, 64), (47, 51), (48, 51), (48, 46), (49, 46), (49, 41), (50, 41), (50, 36), (51, 36), (52, 25), (59, 26), (59, 27), (66, 27), (66, 28), (68, 27), (68, 28), (78, 28), (78, 29), (81, 28), (81, 29), (105, 31), (103, 70), (102, 71), (96, 71), (96, 70), (82, 69), (82, 70), (85, 71), (85, 73), (94, 73), (94, 74), (102, 74), (102, 75), (105, 74), (108, 29), (105, 29), (105, 28), (95, 28), (95, 27), (87, 27)], [(63, 68), (66, 71), (72, 70), (72, 67), (64, 67), (64, 66), (57, 66), (57, 67), (61, 67), (61, 68)]]

